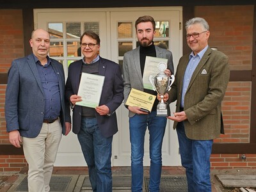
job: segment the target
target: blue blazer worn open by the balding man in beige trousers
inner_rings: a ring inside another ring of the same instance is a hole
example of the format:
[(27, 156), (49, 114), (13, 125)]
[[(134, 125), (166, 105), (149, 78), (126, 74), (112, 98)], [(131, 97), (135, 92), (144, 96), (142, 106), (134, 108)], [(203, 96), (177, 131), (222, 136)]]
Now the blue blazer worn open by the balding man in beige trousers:
[[(63, 65), (51, 59), (51, 65), (60, 85), (62, 132), (65, 122), (71, 122), (70, 108), (65, 100), (65, 76)], [(20, 136), (35, 138), (44, 121), (45, 97), (33, 54), (12, 62), (8, 72), (5, 99), (7, 132), (19, 130)]]

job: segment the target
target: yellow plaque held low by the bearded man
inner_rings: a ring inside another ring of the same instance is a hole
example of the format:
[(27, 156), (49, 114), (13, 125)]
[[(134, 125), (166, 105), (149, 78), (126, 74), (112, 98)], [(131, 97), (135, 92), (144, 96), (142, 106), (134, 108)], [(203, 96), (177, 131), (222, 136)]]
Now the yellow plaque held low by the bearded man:
[(138, 106), (141, 109), (151, 111), (155, 99), (156, 99), (155, 95), (141, 92), (139, 90), (132, 88), (125, 104), (127, 106)]

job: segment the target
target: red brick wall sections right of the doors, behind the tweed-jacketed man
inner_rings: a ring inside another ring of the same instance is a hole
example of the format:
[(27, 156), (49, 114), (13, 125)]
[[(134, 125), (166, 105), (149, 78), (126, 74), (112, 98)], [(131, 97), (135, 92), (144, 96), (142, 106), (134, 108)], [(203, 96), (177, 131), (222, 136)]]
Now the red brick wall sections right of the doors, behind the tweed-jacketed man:
[[(230, 70), (252, 70), (253, 6), (196, 6), (210, 26), (209, 46), (227, 54)], [(215, 143), (250, 142), (251, 82), (230, 82), (222, 102), (225, 134)], [(256, 168), (256, 154), (212, 154), (211, 168)]]

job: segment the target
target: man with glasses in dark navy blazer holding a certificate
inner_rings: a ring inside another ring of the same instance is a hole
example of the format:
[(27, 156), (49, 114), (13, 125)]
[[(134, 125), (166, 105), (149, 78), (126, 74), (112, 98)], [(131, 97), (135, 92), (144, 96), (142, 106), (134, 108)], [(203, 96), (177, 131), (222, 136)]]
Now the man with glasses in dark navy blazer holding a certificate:
[[(124, 84), (121, 70), (113, 61), (101, 58), (99, 36), (86, 31), (80, 38), (84, 58), (71, 63), (65, 96), (73, 108), (73, 132), (77, 134), (89, 168), (93, 191), (111, 192), (111, 150), (113, 135), (118, 131), (116, 109), (124, 100)], [(99, 106), (88, 108), (76, 105), (81, 74), (104, 76)]]

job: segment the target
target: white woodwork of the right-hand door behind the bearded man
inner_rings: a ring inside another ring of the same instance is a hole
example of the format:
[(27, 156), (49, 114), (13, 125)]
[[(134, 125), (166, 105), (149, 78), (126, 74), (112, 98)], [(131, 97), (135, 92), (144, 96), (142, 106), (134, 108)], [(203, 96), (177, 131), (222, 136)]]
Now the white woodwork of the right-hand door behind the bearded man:
[[(154, 38), (154, 40), (168, 40), (170, 51), (173, 53), (173, 63), (175, 70), (180, 56), (182, 56), (182, 8), (169, 7), (169, 8), (122, 8), (110, 13), (111, 16), (111, 60), (118, 63), (118, 60), (122, 60), (122, 56), (118, 56), (118, 42), (132, 42), (132, 49), (136, 48), (136, 30), (134, 28), (135, 20), (142, 15), (151, 15), (154, 20), (166, 20), (169, 21), (169, 33), (170, 36), (166, 38)], [(118, 40), (118, 22), (132, 22), (132, 38), (121, 38)], [(175, 104), (171, 104), (171, 111), (175, 111)], [(118, 108), (118, 127), (119, 131), (115, 135), (113, 140), (113, 164), (115, 166), (127, 166), (131, 164), (131, 144), (129, 142), (129, 118), (128, 110), (124, 107), (124, 104)], [(176, 131), (173, 131), (173, 122), (168, 120), (166, 125), (166, 132), (164, 134), (164, 141), (162, 147), (162, 159), (164, 166), (179, 166), (179, 144), (177, 141)], [(120, 130), (121, 129), (121, 130)], [(149, 135), (148, 130), (145, 136), (144, 145), (144, 166), (150, 165), (149, 158)], [(115, 147), (118, 146), (118, 147)]]

